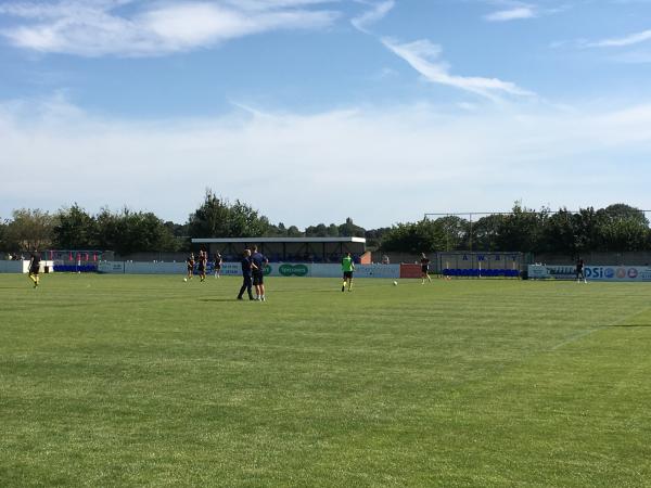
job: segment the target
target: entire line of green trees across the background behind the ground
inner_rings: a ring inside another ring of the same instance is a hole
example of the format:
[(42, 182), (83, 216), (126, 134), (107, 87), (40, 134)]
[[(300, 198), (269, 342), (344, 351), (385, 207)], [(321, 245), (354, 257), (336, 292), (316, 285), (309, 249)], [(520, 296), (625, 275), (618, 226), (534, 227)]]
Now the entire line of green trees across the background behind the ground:
[(149, 211), (127, 207), (97, 215), (79, 205), (54, 214), (17, 209), (0, 222), (0, 251), (102, 249), (120, 255), (137, 252), (183, 252), (193, 237), (328, 237), (360, 236), (367, 245), (384, 252), (432, 253), (484, 251), (559, 253), (576, 256), (589, 251), (651, 251), (651, 231), (644, 213), (626, 204), (605, 208), (528, 209), (516, 202), (510, 213), (476, 220), (443, 216), (417, 222), (363, 229), (347, 218), (341, 224), (318, 223), (304, 231), (283, 222), (271, 223), (250, 205), (234, 203), (206, 190), (203, 203), (180, 224), (164, 221)]

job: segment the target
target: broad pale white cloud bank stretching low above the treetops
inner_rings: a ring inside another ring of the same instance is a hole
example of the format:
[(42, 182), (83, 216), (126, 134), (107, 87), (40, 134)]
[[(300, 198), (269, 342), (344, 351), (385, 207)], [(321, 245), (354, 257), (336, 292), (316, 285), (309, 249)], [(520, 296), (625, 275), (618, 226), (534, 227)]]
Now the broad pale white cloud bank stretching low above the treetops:
[[(576, 208), (624, 194), (643, 206), (651, 103), (564, 112), (254, 110), (151, 123), (100, 119), (56, 97), (0, 103), (0, 146), (3, 217), (78, 202), (89, 211), (127, 204), (182, 222), (210, 187), (272, 221), (353, 217), (370, 228), (425, 211), (507, 210), (523, 196), (527, 206)], [(189, 174), (201, 175), (194, 193)]]

